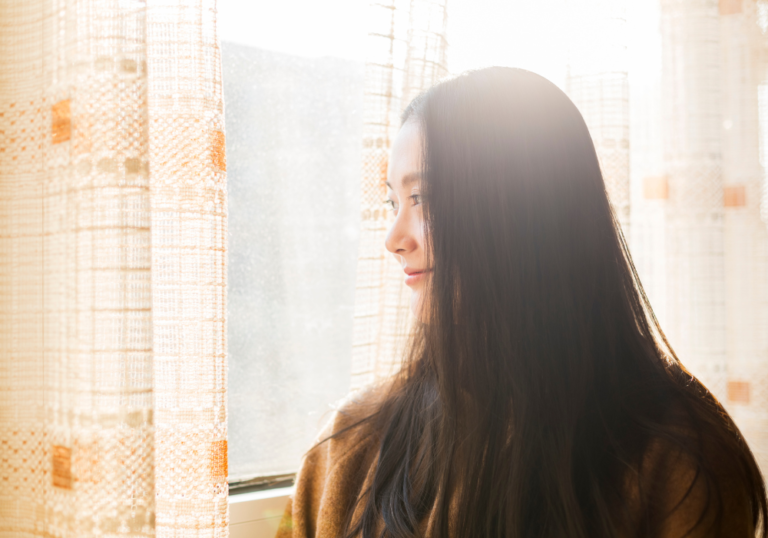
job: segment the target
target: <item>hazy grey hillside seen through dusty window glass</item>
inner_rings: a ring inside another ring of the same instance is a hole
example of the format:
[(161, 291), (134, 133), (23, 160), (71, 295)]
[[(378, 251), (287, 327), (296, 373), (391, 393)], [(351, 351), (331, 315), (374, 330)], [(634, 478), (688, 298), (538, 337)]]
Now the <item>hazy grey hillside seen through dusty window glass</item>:
[(222, 44), (230, 480), (293, 472), (346, 394), (362, 62)]

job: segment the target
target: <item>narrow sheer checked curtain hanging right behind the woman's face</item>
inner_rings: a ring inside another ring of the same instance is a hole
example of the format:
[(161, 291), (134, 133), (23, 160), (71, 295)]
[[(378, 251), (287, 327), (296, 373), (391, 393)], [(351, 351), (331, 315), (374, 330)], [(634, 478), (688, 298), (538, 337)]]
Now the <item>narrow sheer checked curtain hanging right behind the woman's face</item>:
[(353, 389), (397, 370), (413, 322), (402, 269), (384, 248), (384, 183), (400, 114), (447, 74), (446, 0), (374, 1), (368, 12)]

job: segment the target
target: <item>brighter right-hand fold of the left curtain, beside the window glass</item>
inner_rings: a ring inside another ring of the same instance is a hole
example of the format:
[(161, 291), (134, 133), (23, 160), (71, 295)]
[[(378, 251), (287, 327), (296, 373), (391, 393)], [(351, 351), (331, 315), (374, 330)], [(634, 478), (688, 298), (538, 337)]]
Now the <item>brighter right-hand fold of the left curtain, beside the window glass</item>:
[(216, 2), (148, 6), (157, 536), (222, 537), (227, 198)]

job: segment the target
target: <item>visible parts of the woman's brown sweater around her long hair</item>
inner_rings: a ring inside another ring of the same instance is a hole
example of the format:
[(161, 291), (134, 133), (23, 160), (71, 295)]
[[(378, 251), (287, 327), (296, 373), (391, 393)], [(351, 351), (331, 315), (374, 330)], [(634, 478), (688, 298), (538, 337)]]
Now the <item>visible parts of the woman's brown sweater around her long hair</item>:
[[(347, 397), (334, 412), (318, 439), (326, 439), (375, 411), (385, 395), (385, 390), (383, 385), (379, 385)], [(305, 455), (296, 478), (296, 489), (283, 515), (277, 538), (341, 538), (348, 511), (360, 493), (369, 487), (373, 478), (379, 441), (376, 432), (363, 425), (351, 428), (339, 437), (320, 443), (310, 450)], [(637, 529), (628, 529), (621, 538), (649, 536), (639, 530), (640, 521), (646, 524), (651, 521), (655, 530), (650, 535), (659, 538), (755, 536), (747, 497), (742, 491), (729, 488), (727, 473), (717, 477), (725, 502), (723, 528), (727, 529), (727, 532), (706, 532), (709, 527), (707, 519), (714, 516), (713, 511), (708, 511), (704, 524), (696, 527), (696, 532), (690, 534), (686, 532), (694, 526), (702, 506), (707, 502), (706, 487), (699, 480), (694, 483), (690, 495), (680, 504), (680, 499), (693, 482), (693, 466), (687, 462), (685, 456), (665, 448), (662, 443), (653, 444), (640, 473), (635, 473), (634, 478), (628, 477), (626, 480), (626, 495), (630, 499), (630, 505), (632, 500), (639, 498), (637, 476), (646, 473), (667, 477), (663, 482), (664, 487), (653, 492), (658, 501), (653, 507), (655, 515), (639, 508), (635, 510), (632, 517), (638, 522)], [(639, 503), (636, 506), (639, 507)], [(675, 507), (677, 509), (673, 511)], [(646, 507), (644, 510), (647, 509)], [(361, 511), (358, 506), (353, 520), (357, 520)], [(451, 513), (455, 513), (455, 510), (451, 510)], [(432, 530), (433, 515), (434, 512), (431, 512), (419, 529), (425, 538), (437, 536)], [(379, 530), (381, 529), (383, 522), (380, 523)]]

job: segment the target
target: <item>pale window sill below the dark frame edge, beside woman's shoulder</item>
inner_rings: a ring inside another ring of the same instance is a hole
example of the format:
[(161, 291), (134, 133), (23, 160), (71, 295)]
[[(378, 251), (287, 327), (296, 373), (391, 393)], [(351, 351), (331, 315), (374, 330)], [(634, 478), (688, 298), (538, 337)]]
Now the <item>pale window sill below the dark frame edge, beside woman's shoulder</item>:
[(293, 487), (229, 496), (230, 538), (274, 538)]

